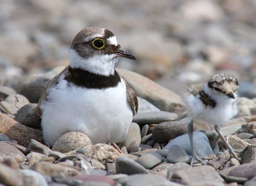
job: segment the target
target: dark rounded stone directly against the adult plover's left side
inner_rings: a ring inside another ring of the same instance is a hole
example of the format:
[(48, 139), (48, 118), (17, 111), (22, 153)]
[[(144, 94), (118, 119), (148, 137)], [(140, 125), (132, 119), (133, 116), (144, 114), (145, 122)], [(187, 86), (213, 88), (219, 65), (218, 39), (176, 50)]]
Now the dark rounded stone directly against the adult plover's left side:
[(41, 129), (41, 117), (37, 115), (37, 104), (27, 104), (19, 109), (15, 121), (30, 128)]

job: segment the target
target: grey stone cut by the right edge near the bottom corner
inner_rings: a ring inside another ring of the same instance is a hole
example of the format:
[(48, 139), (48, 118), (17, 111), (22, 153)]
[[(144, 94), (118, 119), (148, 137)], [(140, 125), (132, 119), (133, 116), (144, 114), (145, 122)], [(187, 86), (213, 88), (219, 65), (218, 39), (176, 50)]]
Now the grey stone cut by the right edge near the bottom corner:
[(256, 170), (256, 163), (246, 163), (233, 168), (228, 174), (228, 176), (245, 177), (247, 179), (252, 179), (254, 172)]

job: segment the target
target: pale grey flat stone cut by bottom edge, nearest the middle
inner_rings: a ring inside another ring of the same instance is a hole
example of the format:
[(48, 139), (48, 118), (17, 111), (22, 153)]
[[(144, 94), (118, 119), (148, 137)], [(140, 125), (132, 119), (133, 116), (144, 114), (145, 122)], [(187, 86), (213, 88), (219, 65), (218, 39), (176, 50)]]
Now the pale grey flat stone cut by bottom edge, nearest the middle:
[(157, 186), (159, 183), (161, 185), (166, 186), (178, 186), (180, 184), (175, 184), (167, 180), (165, 177), (161, 175), (154, 175), (154, 174), (135, 174), (127, 177), (123, 177), (118, 180), (118, 183), (121, 183), (122, 185), (131, 185), (131, 186)]

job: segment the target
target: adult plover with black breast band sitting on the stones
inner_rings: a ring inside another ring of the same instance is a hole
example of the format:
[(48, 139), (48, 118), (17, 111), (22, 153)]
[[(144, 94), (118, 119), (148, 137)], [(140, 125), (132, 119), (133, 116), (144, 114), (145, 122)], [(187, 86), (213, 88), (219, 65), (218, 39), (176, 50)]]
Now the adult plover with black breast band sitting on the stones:
[(84, 132), (93, 144), (125, 139), (138, 99), (114, 69), (120, 57), (137, 60), (111, 31), (86, 28), (77, 33), (70, 65), (46, 84), (38, 102), (48, 146), (70, 131)]

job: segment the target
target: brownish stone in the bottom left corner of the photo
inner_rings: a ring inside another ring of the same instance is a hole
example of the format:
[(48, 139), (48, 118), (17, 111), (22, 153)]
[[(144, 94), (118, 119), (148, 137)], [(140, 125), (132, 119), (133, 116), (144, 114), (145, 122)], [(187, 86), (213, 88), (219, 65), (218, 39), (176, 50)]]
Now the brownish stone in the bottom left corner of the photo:
[(23, 176), (20, 170), (14, 170), (13, 168), (0, 163), (0, 183), (4, 185), (23, 185)]

